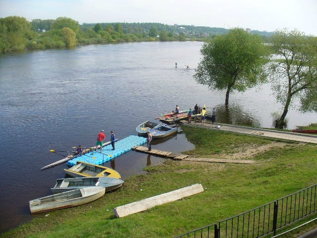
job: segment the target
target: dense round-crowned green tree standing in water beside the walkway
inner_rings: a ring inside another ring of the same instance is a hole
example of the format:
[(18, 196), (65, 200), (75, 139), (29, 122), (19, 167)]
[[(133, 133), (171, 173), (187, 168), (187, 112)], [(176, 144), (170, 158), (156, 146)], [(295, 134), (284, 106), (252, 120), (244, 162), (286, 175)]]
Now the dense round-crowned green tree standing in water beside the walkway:
[(231, 29), (228, 34), (204, 43), (201, 54), (203, 59), (195, 69), (194, 78), (211, 90), (226, 89), (226, 106), (231, 91), (244, 92), (266, 79), (264, 64), (269, 51), (260, 36), (243, 29)]

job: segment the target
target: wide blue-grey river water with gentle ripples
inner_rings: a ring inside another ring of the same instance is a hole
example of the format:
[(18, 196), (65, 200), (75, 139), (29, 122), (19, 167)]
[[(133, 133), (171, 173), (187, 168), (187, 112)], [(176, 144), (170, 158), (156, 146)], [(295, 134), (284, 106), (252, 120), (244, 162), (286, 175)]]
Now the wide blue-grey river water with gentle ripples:
[[(90, 45), (70, 50), (9, 53), (0, 56), (0, 232), (36, 216), (31, 199), (51, 194), (62, 159), (73, 146), (93, 146), (101, 129), (108, 141), (136, 135), (135, 127), (163, 113), (206, 104), (217, 109), (218, 122), (271, 127), (271, 113), (280, 105), (269, 85), (231, 93), (229, 112), (225, 92), (210, 91), (193, 79), (201, 42), (145, 42)], [(178, 67), (175, 68), (175, 62)], [(190, 69), (185, 69), (189, 65)], [(290, 110), (289, 128), (317, 121), (316, 114)], [(194, 146), (181, 132), (153, 143), (154, 148), (181, 152)], [(130, 151), (105, 164), (123, 179), (143, 174), (161, 158)]]

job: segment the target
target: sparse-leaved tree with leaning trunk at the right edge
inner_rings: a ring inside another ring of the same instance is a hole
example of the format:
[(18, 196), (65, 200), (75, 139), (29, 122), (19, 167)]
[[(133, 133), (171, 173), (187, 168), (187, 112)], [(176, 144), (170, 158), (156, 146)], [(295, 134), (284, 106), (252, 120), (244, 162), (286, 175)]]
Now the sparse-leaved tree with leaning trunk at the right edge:
[(270, 45), (275, 59), (270, 64), (272, 91), (284, 107), (275, 126), (282, 128), (295, 99), (300, 111), (317, 112), (317, 37), (284, 29), (271, 36)]

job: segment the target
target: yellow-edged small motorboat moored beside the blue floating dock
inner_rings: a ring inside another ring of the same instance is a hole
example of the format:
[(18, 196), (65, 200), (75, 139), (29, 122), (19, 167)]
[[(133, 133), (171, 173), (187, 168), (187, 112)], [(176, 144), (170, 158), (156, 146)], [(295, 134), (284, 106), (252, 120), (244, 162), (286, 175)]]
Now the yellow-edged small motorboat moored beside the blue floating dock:
[(72, 177), (110, 177), (120, 179), (121, 176), (115, 170), (108, 167), (77, 161), (76, 165), (64, 169), (65, 173)]

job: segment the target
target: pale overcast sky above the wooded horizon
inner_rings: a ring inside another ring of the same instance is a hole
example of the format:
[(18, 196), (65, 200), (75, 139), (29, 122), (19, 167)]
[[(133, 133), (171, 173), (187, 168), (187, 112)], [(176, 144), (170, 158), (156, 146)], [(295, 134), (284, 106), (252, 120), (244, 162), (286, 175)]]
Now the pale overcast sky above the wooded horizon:
[(317, 36), (317, 0), (0, 0), (0, 17), (22, 16), (82, 23), (158, 22)]

